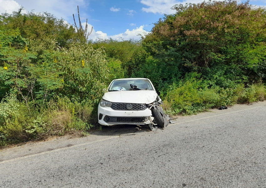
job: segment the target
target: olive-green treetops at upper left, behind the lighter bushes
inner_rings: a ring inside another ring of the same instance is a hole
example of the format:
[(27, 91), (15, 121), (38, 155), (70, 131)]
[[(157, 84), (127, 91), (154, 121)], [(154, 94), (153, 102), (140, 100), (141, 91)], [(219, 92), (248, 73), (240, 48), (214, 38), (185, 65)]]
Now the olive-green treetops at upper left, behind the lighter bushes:
[(85, 42), (81, 32), (75, 32), (72, 25), (49, 13), (5, 13), (0, 16), (1, 25), (4, 29), (18, 29), (21, 36), (27, 39), (55, 39), (60, 47), (68, 47), (73, 42)]

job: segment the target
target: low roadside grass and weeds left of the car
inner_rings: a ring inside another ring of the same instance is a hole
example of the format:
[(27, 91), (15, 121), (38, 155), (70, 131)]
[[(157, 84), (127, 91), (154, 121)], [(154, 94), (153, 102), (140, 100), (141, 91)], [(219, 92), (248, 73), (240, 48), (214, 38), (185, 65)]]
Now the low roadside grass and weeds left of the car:
[(0, 103), (0, 146), (49, 136), (84, 135), (92, 127), (94, 107), (89, 101), (73, 103), (64, 97), (50, 101), (47, 106), (30, 105), (32, 118), (29, 118), (23, 102), (18, 102), (13, 95), (6, 96)]

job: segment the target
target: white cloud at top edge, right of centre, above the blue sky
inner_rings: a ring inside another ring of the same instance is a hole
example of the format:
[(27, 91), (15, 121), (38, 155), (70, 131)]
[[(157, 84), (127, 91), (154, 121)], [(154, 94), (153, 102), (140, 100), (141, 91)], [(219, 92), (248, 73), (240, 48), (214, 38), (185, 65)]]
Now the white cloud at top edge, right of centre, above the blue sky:
[(147, 13), (159, 13), (159, 14), (173, 14), (176, 11), (171, 8), (176, 4), (185, 3), (201, 3), (203, 0), (141, 0), (141, 3), (148, 8), (142, 8), (141, 10)]

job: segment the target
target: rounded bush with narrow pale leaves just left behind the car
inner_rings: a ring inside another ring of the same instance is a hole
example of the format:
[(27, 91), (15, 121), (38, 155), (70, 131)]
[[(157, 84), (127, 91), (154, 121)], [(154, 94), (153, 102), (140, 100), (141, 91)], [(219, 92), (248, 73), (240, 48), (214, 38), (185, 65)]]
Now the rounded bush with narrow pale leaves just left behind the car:
[(64, 76), (63, 94), (72, 101), (89, 99), (99, 102), (109, 78), (103, 49), (94, 50), (91, 44), (72, 44), (64, 50), (58, 64)]

